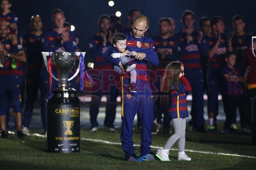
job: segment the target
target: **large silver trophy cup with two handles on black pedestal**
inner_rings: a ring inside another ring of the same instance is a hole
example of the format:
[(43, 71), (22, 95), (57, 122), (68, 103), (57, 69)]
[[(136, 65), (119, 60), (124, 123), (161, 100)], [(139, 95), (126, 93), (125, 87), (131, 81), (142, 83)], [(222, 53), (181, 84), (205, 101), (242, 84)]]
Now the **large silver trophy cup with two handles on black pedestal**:
[(83, 54), (83, 56), (85, 56), (85, 52), (42, 52), (42, 54), (43, 61), (48, 72), (49, 68), (47, 56), (50, 56), (50, 59), (52, 60), (52, 65), (58, 71), (58, 78), (56, 78), (54, 75), (52, 75), (52, 78), (59, 81), (58, 89), (62, 90), (67, 89), (68, 81), (72, 80), (75, 76), (77, 76), (80, 71), (81, 58), (76, 73), (71, 78), (68, 78), (69, 72), (75, 64), (75, 57), (80, 56), (80, 54)]

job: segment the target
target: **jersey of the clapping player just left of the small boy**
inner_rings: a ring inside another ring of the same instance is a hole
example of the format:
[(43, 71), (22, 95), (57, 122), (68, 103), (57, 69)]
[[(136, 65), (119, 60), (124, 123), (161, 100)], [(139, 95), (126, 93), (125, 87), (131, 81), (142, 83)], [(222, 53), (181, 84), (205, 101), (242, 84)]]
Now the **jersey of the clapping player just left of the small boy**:
[[(221, 42), (218, 49), (212, 58), (208, 58), (208, 68), (210, 69), (221, 69), (224, 63), (224, 55), (227, 51), (227, 37), (221, 34)], [(217, 39), (210, 34), (203, 37), (200, 50), (203, 54), (207, 55), (208, 51), (213, 48), (216, 44)]]

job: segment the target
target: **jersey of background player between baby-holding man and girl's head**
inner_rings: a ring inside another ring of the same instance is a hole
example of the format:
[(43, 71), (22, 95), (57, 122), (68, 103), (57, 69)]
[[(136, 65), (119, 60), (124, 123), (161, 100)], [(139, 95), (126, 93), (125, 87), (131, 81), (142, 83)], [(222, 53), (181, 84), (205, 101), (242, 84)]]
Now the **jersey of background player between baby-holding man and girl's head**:
[[(176, 55), (176, 42), (173, 34), (170, 34), (167, 39), (163, 39), (161, 35), (153, 37), (153, 39), (159, 59), (159, 65), (156, 67), (156, 69), (165, 69), (171, 61), (176, 61), (179, 59)], [(162, 58), (163, 55), (165, 55), (164, 58)]]

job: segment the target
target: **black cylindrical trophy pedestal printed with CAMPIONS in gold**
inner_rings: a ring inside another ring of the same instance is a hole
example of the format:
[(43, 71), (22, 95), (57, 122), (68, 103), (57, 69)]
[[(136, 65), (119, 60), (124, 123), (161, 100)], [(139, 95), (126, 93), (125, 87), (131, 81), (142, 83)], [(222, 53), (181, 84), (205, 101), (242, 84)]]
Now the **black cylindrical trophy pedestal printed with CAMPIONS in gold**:
[(47, 152), (80, 152), (80, 99), (72, 88), (54, 89), (47, 100)]

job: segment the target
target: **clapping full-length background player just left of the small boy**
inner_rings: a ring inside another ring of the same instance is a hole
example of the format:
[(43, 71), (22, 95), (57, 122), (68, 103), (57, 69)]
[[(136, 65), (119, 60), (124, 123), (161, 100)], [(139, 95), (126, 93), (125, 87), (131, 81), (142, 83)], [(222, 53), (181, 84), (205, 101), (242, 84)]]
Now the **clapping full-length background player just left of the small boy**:
[(211, 19), (211, 34), (205, 35), (201, 41), (201, 44), (204, 44), (204, 46), (201, 46), (200, 48), (201, 53), (208, 56), (208, 131), (216, 130), (216, 117), (218, 116), (218, 95), (219, 92), (223, 92), (221, 89), (221, 68), (223, 67), (226, 51), (232, 51), (231, 41), (228, 41), (227, 37), (223, 34), (224, 29), (225, 26), (222, 17), (214, 16)]

